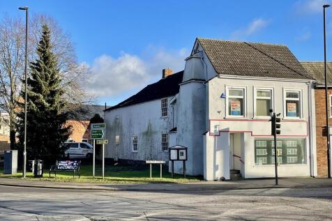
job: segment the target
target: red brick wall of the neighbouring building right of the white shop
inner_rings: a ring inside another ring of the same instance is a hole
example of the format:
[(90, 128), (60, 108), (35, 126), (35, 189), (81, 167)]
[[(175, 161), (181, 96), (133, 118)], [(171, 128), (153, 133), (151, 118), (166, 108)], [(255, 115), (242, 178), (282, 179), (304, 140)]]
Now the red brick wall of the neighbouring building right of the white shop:
[[(328, 96), (332, 94), (329, 89)], [(329, 99), (329, 98), (328, 98)], [(315, 89), (316, 105), (316, 144), (317, 144), (317, 170), (318, 176), (327, 176), (327, 144), (326, 144), (326, 112), (325, 112), (325, 89)], [(329, 100), (328, 100), (328, 105)], [(330, 116), (330, 113), (329, 113)], [(332, 125), (332, 118), (329, 118)]]

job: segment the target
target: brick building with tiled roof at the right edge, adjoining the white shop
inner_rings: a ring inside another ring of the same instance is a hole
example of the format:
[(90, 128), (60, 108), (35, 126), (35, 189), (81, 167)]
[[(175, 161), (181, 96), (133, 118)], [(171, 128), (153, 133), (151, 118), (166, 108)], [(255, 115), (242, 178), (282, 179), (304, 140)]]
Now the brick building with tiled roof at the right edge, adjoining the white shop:
[[(305, 70), (307, 70), (307, 72), (310, 73), (310, 75), (312, 75), (312, 77), (317, 80), (317, 84), (315, 85), (317, 174), (319, 177), (326, 177), (328, 174), (328, 161), (326, 146), (324, 62), (301, 62), (301, 64), (305, 68)], [(332, 62), (328, 62), (326, 68), (329, 86), (329, 127), (332, 127)]]

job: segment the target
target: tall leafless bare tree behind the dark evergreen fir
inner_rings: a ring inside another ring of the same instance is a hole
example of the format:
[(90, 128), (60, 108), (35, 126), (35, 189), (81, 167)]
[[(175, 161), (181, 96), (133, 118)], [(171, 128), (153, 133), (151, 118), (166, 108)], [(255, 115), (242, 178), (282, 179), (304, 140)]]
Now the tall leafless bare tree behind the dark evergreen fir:
[[(51, 43), (59, 61), (63, 96), (68, 100), (68, 111), (84, 103), (93, 103), (94, 98), (84, 91), (84, 79), (89, 68), (77, 62), (75, 48), (68, 33), (47, 15), (32, 15), (29, 20), (29, 61), (36, 58), (36, 45), (41, 36), (41, 27), (47, 24), (51, 31)], [(10, 147), (15, 148), (16, 119), (24, 74), (25, 24), (17, 17), (0, 20), (0, 110), (8, 112), (10, 119)], [(28, 70), (29, 73), (29, 70)], [(74, 105), (73, 105), (74, 104)]]

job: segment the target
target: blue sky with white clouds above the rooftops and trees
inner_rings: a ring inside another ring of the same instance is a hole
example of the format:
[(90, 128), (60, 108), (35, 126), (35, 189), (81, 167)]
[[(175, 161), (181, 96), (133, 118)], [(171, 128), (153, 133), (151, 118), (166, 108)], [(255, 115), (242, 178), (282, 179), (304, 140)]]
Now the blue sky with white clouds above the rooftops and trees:
[[(89, 91), (115, 105), (160, 79), (162, 68), (182, 70), (197, 36), (282, 44), (300, 61), (322, 61), (324, 3), (331, 1), (0, 0), (0, 18), (23, 17), (20, 6), (54, 17), (91, 67)], [(332, 50), (332, 8), (326, 16)]]

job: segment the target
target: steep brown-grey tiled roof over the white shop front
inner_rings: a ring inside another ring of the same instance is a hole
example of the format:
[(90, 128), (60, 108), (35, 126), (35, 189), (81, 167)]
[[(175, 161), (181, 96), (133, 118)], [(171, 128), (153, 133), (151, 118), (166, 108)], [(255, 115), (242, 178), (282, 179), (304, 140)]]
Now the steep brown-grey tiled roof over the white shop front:
[(285, 45), (197, 40), (219, 75), (312, 79)]

